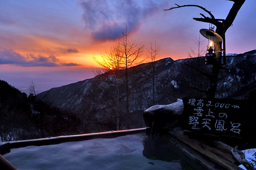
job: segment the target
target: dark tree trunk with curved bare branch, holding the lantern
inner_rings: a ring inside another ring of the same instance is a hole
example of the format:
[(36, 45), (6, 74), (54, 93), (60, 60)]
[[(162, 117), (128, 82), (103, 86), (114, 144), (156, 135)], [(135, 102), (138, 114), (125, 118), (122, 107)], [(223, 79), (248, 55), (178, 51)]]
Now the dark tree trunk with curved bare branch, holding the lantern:
[[(201, 21), (201, 22), (206, 22), (206, 23), (211, 23), (211, 24), (216, 25), (217, 28), (216, 28), (215, 32), (218, 33), (223, 38), (223, 35), (224, 35), (223, 33), (225, 33), (227, 31), (227, 29), (232, 25), (234, 19), (236, 18), (238, 11), (240, 10), (240, 8), (242, 7), (242, 5), (245, 2), (245, 0), (229, 0), (229, 1), (233, 1), (234, 4), (233, 4), (233, 7), (230, 9), (229, 14), (227, 15), (226, 19), (222, 21), (224, 23), (224, 27), (223, 27), (223, 23), (220, 22), (220, 20), (215, 19), (214, 15), (212, 15), (212, 13), (210, 11), (208, 11), (206, 8), (203, 8), (199, 5), (182, 5), (182, 6), (180, 6), (180, 5), (176, 4), (177, 7), (174, 7), (174, 8), (198, 7), (198, 8), (203, 9), (205, 12), (207, 12), (210, 15), (210, 17), (206, 17), (202, 13), (200, 13), (200, 15), (203, 16), (203, 18), (193, 18), (193, 19), (196, 21)], [(170, 8), (170, 9), (166, 9), (166, 10), (171, 10), (174, 8)], [(206, 95), (208, 98), (215, 97), (219, 70), (222, 69), (222, 64), (221, 64), (222, 42), (215, 42), (214, 45), (215, 45), (215, 54), (216, 54), (218, 63), (213, 65), (212, 71), (208, 75), (209, 83), (208, 83), (208, 88), (206, 91)]]

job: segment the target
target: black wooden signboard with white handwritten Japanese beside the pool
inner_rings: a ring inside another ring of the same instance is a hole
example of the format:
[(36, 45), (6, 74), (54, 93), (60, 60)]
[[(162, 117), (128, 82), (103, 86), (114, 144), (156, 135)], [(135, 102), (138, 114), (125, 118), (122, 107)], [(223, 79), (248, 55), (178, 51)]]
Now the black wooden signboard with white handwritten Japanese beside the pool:
[(182, 123), (184, 129), (200, 133), (243, 137), (251, 131), (245, 100), (184, 97)]

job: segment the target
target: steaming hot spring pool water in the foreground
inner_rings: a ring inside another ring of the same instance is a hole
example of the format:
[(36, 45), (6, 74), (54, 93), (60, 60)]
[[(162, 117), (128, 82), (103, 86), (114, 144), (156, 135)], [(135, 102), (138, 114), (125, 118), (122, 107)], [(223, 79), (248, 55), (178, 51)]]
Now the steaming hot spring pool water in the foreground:
[(18, 170), (206, 170), (165, 138), (145, 133), (27, 146), (3, 157)]

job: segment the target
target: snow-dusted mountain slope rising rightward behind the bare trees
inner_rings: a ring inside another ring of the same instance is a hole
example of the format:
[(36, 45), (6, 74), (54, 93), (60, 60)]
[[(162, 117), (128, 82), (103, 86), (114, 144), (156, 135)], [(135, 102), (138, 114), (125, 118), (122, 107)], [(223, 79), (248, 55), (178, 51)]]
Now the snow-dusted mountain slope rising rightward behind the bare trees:
[[(155, 104), (170, 104), (184, 96), (205, 97), (212, 66), (204, 57), (161, 59), (129, 68), (129, 115), (125, 113), (124, 72), (109, 71), (93, 79), (52, 88), (43, 95), (54, 106), (72, 110), (84, 129), (131, 129), (144, 126), (142, 113)], [(154, 69), (154, 76), (153, 76)], [(255, 90), (256, 50), (228, 55), (219, 74), (216, 98), (244, 99)], [(154, 83), (153, 83), (154, 79)], [(154, 84), (154, 89), (153, 89)], [(153, 93), (154, 90), (154, 93)]]

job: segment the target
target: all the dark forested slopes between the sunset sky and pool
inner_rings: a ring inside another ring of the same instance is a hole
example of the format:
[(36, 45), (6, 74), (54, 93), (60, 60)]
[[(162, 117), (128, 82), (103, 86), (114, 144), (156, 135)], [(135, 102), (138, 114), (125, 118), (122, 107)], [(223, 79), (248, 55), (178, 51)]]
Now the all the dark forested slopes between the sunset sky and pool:
[[(215, 97), (248, 99), (251, 94), (255, 101), (256, 50), (229, 55), (226, 62)], [(205, 97), (208, 78), (200, 72), (211, 67), (203, 57), (140, 64), (128, 69), (128, 95), (124, 70), (29, 96), (0, 80), (0, 142), (145, 127), (148, 107)]]

